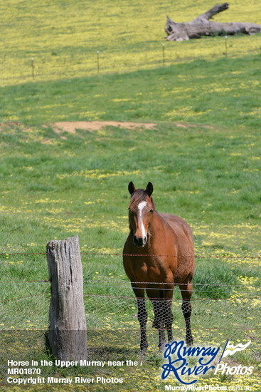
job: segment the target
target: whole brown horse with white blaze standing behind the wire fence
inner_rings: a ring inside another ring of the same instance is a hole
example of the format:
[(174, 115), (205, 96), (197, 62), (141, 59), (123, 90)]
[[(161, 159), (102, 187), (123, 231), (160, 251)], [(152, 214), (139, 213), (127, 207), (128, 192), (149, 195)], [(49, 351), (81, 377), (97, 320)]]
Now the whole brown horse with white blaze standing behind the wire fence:
[(148, 347), (145, 290), (154, 307), (153, 326), (159, 330), (159, 349), (166, 344), (164, 328), (168, 341), (173, 340), (171, 303), (175, 285), (181, 289), (183, 299), (186, 344), (193, 344), (190, 299), (195, 259), (191, 227), (181, 217), (156, 212), (152, 192), (151, 182), (146, 190), (136, 190), (129, 182), (130, 232), (123, 249), (124, 269), (137, 297), (142, 354)]

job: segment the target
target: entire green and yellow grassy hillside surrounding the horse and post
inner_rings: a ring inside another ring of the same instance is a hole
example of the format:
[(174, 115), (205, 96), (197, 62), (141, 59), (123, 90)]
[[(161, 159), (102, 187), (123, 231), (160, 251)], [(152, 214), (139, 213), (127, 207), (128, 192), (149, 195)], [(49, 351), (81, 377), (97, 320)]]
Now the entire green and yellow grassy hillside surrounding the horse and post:
[[(211, 374), (197, 385), (261, 391), (261, 37), (229, 38), (228, 57), (222, 37), (167, 43), (162, 66), (166, 14), (185, 21), (211, 6), (211, 1), (187, 0), (174, 9), (166, 1), (146, 0), (122, 7), (114, 1), (105, 12), (103, 1), (1, 5), (6, 32), (0, 41), (1, 373), (10, 356), (48, 359), (42, 331), (48, 329), (50, 286), (28, 281), (48, 279), (46, 242), (75, 234), (82, 252), (90, 355), (137, 358), (134, 297), (122, 258), (110, 254), (120, 254), (127, 237), (129, 181), (136, 187), (151, 181), (156, 209), (180, 215), (193, 229), (197, 344), (253, 342), (248, 354), (238, 353), (231, 362), (254, 366), (251, 378)], [(256, 7), (255, 1), (247, 9), (235, 2), (216, 20), (260, 23)], [(154, 127), (100, 124), (96, 130), (76, 127), (68, 133), (54, 125), (88, 120)], [(174, 297), (174, 332), (182, 339), (176, 290)], [(163, 391), (152, 319), (149, 307), (146, 366), (90, 368), (88, 374), (80, 368), (45, 368), (43, 373), (122, 376), (124, 385), (115, 384), (115, 391)], [(27, 391), (4, 381), (1, 388)], [(105, 391), (110, 385), (95, 388)]]

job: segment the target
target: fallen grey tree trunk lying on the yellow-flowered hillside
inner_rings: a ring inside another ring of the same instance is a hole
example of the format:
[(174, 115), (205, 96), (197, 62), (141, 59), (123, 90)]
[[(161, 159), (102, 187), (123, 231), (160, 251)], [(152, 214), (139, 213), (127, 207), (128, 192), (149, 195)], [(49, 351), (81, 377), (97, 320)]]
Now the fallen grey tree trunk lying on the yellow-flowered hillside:
[(260, 24), (232, 22), (219, 23), (210, 21), (213, 16), (228, 9), (228, 3), (215, 4), (212, 9), (188, 23), (176, 23), (167, 16), (165, 31), (168, 41), (188, 41), (190, 38), (201, 36), (234, 35), (238, 33), (255, 34), (261, 32)]

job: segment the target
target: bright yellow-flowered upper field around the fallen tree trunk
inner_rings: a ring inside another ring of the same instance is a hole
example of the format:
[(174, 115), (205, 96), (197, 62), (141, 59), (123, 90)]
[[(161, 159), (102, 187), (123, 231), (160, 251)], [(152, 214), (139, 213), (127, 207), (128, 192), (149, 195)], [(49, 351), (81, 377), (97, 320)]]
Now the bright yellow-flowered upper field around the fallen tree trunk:
[[(1, 84), (31, 81), (31, 58), (37, 81), (55, 81), (96, 74), (97, 51), (101, 73), (158, 68), (163, 62), (163, 43), (168, 66), (195, 58), (223, 57), (224, 37), (182, 43), (164, 39), (167, 15), (176, 22), (187, 22), (213, 5), (212, 0), (3, 1)], [(215, 21), (260, 24), (259, 4), (255, 0), (247, 4), (233, 1)], [(229, 37), (228, 56), (257, 54), (260, 46), (260, 35)]]

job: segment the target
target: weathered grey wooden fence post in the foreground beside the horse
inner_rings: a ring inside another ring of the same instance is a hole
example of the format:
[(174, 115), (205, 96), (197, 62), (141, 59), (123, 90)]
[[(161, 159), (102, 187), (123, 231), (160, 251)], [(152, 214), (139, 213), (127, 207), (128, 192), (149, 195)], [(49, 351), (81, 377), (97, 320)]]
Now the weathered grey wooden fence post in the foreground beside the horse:
[(79, 237), (46, 245), (50, 277), (48, 341), (60, 361), (87, 359), (87, 331), (83, 303)]

